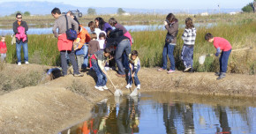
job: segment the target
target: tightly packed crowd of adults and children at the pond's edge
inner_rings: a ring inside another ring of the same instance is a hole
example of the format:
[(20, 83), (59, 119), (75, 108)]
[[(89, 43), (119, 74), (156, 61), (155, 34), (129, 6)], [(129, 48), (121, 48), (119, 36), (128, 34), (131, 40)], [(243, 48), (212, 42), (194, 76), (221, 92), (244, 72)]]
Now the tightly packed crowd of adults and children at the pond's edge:
[[(115, 68), (117, 63), (117, 77), (125, 78), (124, 70), (129, 71), (126, 87), (130, 88), (134, 81), (137, 89), (140, 89), (137, 75), (140, 68), (138, 51), (131, 51), (132, 36), (124, 26), (117, 23), (116, 19), (109, 19), (109, 23), (101, 17), (94, 19), (88, 23), (91, 31), (89, 34), (86, 28), (79, 25), (78, 19), (73, 16), (72, 12), (62, 15), (58, 8), (54, 8), (51, 14), (56, 19), (53, 34), (58, 39), (57, 46), (64, 76), (67, 75), (66, 59), (68, 58), (72, 63), (75, 77), (82, 77), (83, 74), (80, 71), (90, 68), (97, 75), (94, 87), (100, 91), (108, 90), (106, 66)], [(78, 33), (75, 41), (67, 39), (66, 31), (70, 28)]]

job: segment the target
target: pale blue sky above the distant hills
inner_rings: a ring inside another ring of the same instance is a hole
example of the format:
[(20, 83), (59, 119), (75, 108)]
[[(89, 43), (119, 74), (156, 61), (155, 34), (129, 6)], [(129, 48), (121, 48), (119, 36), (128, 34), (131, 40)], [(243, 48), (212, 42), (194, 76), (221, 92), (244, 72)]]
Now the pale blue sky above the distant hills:
[[(8, 0), (13, 2), (18, 0)], [(19, 0), (22, 1), (48, 1), (52, 3), (72, 4), (78, 7), (117, 7), (135, 9), (241, 9), (253, 0)], [(0, 4), (7, 2), (0, 0)]]

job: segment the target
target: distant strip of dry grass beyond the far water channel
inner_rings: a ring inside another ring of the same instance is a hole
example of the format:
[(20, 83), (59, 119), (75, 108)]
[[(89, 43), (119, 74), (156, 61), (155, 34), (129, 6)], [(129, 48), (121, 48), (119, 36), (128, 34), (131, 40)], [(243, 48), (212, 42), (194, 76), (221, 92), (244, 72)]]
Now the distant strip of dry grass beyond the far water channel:
[[(50, 13), (50, 12), (49, 12)], [(162, 25), (167, 14), (131, 14), (130, 16), (105, 14), (105, 15), (87, 15), (84, 14), (82, 18), (79, 18), (80, 24), (87, 26), (90, 21), (94, 21), (96, 17), (102, 17), (106, 22), (110, 18), (114, 17), (118, 20), (118, 23), (123, 25)], [(180, 23), (184, 24), (184, 19), (191, 17), (197, 23), (226, 23), (237, 22), (240, 20), (252, 19), (256, 20), (253, 13), (238, 13), (236, 15), (230, 14), (213, 14), (209, 16), (190, 15), (190, 14), (176, 14)], [(27, 24), (33, 24), (34, 27), (50, 27), (54, 25), (55, 19), (49, 15), (35, 15), (35, 16), (23, 16), (23, 20)], [(16, 21), (13, 16), (0, 17), (0, 28), (11, 28), (12, 23)]]

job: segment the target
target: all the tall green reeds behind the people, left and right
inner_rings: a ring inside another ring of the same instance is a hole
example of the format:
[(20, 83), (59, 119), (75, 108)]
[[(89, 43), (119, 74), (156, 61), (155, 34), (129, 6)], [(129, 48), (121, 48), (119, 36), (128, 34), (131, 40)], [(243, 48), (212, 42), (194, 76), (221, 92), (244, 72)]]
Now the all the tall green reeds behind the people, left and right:
[[(229, 61), (229, 72), (254, 74), (256, 57), (256, 21), (252, 19), (240, 19), (236, 23), (220, 23), (210, 28), (196, 27), (197, 39), (194, 48), (194, 65), (196, 71), (218, 71), (218, 58), (210, 56), (206, 58), (203, 65), (200, 65), (199, 56), (215, 53), (212, 43), (204, 40), (206, 33), (212, 33), (215, 36), (223, 37), (230, 41), (232, 48), (253, 47), (251, 50), (232, 52)], [(156, 67), (162, 65), (162, 48), (164, 46), (165, 30), (149, 29), (148, 31), (132, 32), (134, 44), (132, 49), (139, 51), (139, 58), (142, 66)], [(183, 41), (181, 36), (183, 28), (179, 29), (177, 34), (177, 46), (174, 49), (177, 70), (183, 70), (184, 65), (180, 59)], [(53, 34), (28, 35), (28, 55), (30, 63), (39, 63), (46, 65), (60, 65), (60, 56), (57, 50), (57, 39)], [(11, 46), (11, 37), (7, 36), (7, 62), (15, 63), (17, 61), (15, 45)], [(23, 57), (23, 56), (22, 56)]]

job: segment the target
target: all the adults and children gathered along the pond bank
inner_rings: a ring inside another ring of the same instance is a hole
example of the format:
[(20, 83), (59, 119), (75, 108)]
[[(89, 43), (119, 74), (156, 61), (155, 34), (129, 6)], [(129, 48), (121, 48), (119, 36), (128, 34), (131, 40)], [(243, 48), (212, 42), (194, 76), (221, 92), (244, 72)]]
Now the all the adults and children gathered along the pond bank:
[[(83, 69), (90, 68), (96, 72), (97, 81), (95, 88), (103, 91), (107, 90), (107, 71), (106, 66), (115, 69), (118, 67), (117, 77), (125, 78), (128, 71), (127, 86), (132, 87), (132, 82), (140, 89), (138, 71), (140, 69), (139, 52), (131, 50), (132, 36), (124, 26), (117, 23), (117, 19), (110, 18), (109, 23), (105, 22), (101, 17), (95, 18), (94, 21), (88, 23), (91, 33), (79, 24), (79, 20), (68, 11), (66, 15), (62, 15), (58, 8), (51, 11), (52, 16), (56, 19), (53, 26), (53, 34), (58, 39), (57, 48), (60, 51), (61, 66), (63, 76), (67, 75), (68, 62), (72, 63), (73, 75), (82, 77), (80, 73)], [(28, 63), (28, 38), (26, 31), (28, 26), (26, 21), (22, 21), (22, 15), (16, 14), (13, 23), (13, 32), (15, 34), (16, 51), (18, 65), (21, 65), (21, 47), (24, 51), (25, 63)], [(169, 13), (164, 21), (164, 26), (168, 33), (166, 34), (165, 45), (162, 50), (162, 67), (158, 71), (167, 71), (167, 56), (169, 57), (170, 67), (167, 73), (175, 72), (175, 58), (173, 56), (174, 48), (177, 44), (178, 19), (173, 13)], [(115, 28), (113, 28), (115, 27)], [(67, 39), (66, 31), (71, 29), (76, 31), (78, 36), (75, 41)], [(184, 71), (192, 72), (193, 65), (193, 48), (196, 40), (196, 28), (191, 18), (185, 19), (185, 29), (182, 35), (184, 46), (182, 48), (181, 59), (184, 63)], [(216, 72), (217, 79), (225, 77), (227, 71), (228, 60), (231, 52), (230, 42), (221, 38), (214, 37), (213, 34), (206, 34), (205, 40), (213, 42), (216, 48), (215, 56), (220, 56), (220, 71)], [(0, 41), (0, 53), (2, 61), (6, 57), (6, 44), (4, 36)], [(89, 63), (89, 65), (88, 65)]]

